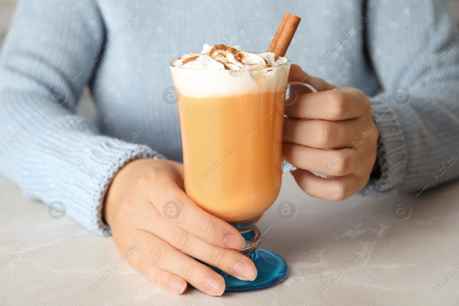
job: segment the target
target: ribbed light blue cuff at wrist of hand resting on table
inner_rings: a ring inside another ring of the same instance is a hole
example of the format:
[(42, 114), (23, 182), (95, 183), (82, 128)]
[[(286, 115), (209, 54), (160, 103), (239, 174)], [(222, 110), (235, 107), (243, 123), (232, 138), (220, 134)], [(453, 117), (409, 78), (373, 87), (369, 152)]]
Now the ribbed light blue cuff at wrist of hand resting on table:
[(108, 187), (118, 171), (137, 158), (164, 158), (146, 145), (113, 140), (102, 143), (90, 157), (85, 158), (81, 168), (84, 173), (74, 176), (80, 178), (77, 184), (81, 187), (78, 186), (79, 189), (68, 200), (72, 208), (68, 212), (74, 219), (96, 234), (105, 236), (111, 231), (103, 221), (102, 207)]

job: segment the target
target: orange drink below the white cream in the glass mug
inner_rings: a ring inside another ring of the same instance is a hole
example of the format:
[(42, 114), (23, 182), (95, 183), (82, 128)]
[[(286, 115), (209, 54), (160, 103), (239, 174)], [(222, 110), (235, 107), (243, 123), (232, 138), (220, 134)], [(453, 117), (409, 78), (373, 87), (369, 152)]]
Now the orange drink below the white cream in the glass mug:
[(266, 211), (282, 174), (284, 105), (277, 92), (182, 95), (178, 106), (189, 197), (226, 221)]

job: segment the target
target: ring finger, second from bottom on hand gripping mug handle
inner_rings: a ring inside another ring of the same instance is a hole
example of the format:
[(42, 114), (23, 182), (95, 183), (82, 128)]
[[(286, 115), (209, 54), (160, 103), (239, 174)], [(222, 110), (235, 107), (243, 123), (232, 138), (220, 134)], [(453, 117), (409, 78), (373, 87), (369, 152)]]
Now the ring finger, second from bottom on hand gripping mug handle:
[(304, 145), (285, 143), (282, 154), (295, 167), (331, 176), (345, 176), (356, 172), (364, 157), (353, 146), (337, 150), (323, 150)]

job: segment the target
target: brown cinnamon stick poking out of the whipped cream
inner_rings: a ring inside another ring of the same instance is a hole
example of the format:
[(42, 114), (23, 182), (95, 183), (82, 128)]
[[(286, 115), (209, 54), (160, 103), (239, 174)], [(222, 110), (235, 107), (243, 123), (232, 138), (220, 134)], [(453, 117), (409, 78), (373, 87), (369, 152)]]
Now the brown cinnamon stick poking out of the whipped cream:
[(282, 22), (280, 22), (279, 28), (277, 28), (276, 34), (274, 35), (267, 51), (274, 53), (274, 59), (276, 61), (279, 57), (285, 56), (285, 52), (287, 52), (300, 21), (300, 17), (292, 15), (289, 12), (285, 13), (285, 16), (282, 19)]

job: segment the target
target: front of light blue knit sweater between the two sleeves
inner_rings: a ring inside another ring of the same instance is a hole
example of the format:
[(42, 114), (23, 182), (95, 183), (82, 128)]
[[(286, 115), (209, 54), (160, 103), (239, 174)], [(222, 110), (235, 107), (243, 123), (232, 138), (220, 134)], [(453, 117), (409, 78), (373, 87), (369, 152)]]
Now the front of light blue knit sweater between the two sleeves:
[(265, 1), (98, 0), (106, 39), (103, 55), (89, 61), (97, 65), (91, 89), (101, 131), (129, 141), (140, 127), (136, 143), (181, 161), (177, 106), (163, 99), (173, 85), (169, 62), (204, 43), (265, 51), (286, 11), (302, 17), (287, 51), (294, 63), (329, 83), (375, 94), (378, 81), (363, 57), (371, 22), (368, 14), (363, 22), (363, 0)]

